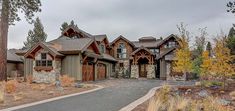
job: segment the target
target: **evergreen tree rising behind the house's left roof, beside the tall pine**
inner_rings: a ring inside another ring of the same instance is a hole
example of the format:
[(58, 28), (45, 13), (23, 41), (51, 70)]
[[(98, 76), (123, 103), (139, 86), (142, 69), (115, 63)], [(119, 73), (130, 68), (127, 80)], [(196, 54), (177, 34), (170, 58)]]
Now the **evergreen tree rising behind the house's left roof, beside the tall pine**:
[(24, 42), (24, 48), (31, 48), (38, 42), (45, 42), (47, 38), (47, 34), (44, 32), (44, 27), (37, 17), (36, 21), (34, 22), (34, 29), (29, 30), (28, 37), (26, 42)]

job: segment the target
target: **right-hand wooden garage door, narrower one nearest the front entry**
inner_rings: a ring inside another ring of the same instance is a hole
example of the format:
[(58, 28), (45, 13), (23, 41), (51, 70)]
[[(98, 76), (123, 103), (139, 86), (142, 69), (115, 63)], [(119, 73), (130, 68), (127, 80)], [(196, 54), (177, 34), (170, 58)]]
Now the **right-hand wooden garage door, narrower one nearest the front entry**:
[(97, 66), (97, 79), (102, 80), (106, 78), (106, 67), (104, 64), (98, 64)]

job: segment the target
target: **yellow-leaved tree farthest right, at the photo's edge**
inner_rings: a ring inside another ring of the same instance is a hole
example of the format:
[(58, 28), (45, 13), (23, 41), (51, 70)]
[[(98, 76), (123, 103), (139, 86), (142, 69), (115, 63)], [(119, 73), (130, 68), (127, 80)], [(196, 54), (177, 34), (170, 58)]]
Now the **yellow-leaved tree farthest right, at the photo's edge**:
[(222, 78), (224, 86), (226, 79), (231, 77), (234, 73), (234, 67), (232, 64), (232, 55), (230, 49), (226, 47), (224, 39), (216, 39), (216, 45), (214, 48), (215, 58), (213, 58), (213, 75)]

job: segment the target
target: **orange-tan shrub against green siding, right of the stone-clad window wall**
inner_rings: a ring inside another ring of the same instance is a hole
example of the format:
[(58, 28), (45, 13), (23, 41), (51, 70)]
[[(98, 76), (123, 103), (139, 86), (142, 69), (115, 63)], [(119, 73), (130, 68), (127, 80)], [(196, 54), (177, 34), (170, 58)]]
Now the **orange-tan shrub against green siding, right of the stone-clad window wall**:
[(67, 75), (63, 75), (60, 77), (60, 82), (62, 87), (70, 87), (74, 84), (74, 78), (71, 78)]

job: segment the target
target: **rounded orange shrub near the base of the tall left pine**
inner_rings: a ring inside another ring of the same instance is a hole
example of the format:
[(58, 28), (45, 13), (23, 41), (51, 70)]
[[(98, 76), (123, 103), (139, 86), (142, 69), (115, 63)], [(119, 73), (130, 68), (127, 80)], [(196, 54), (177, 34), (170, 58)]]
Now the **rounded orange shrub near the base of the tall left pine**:
[(7, 93), (14, 93), (16, 91), (16, 85), (17, 81), (16, 80), (10, 80), (5, 83), (5, 91)]

